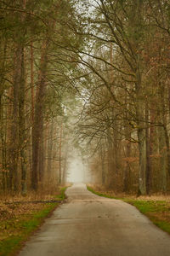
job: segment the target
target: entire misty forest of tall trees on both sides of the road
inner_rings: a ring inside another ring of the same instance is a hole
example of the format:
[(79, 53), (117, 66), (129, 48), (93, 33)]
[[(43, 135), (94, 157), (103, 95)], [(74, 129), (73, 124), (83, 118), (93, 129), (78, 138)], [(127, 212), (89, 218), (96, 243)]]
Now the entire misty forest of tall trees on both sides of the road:
[(0, 194), (170, 192), (169, 0), (0, 0)]

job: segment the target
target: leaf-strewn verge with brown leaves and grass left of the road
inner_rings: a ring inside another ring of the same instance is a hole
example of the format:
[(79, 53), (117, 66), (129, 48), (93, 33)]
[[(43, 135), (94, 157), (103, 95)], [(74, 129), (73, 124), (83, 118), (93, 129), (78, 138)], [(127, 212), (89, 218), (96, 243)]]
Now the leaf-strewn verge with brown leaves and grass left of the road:
[(55, 195), (43, 196), (38, 201), (3, 201), (0, 203), (0, 255), (14, 255), (24, 242), (42, 224), (44, 218), (54, 211), (59, 201), (65, 200), (62, 187)]

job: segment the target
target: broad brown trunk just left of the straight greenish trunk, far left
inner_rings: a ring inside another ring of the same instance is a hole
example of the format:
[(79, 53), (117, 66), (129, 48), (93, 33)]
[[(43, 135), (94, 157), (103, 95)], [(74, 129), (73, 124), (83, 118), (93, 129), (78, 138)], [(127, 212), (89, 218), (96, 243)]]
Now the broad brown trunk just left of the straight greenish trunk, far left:
[[(20, 0), (21, 8), (26, 8), (26, 0)], [(25, 20), (25, 13), (20, 15), (20, 23)], [(26, 29), (21, 29), (25, 37)], [(9, 148), (9, 189), (18, 191), (19, 186), (19, 156), (22, 138), (22, 131), (25, 131), (25, 114), (24, 114), (24, 99), (25, 99), (25, 67), (24, 67), (24, 40), (20, 39), (20, 33), (16, 35), (17, 44), (14, 52), (14, 82), (13, 82), (13, 116), (12, 125), (10, 127), (10, 148)], [(22, 116), (21, 116), (22, 115)], [(25, 136), (23, 136), (25, 139)], [(24, 153), (21, 152), (24, 157)], [(24, 161), (21, 166), (24, 166)], [(25, 168), (25, 167), (24, 167)]]

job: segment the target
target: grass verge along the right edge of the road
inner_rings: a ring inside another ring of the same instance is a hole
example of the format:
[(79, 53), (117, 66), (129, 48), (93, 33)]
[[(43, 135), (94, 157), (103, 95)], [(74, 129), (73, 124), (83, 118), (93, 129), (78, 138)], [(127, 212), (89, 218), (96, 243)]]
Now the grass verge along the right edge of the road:
[(140, 199), (140, 198), (130, 198), (130, 197), (118, 197), (114, 195), (112, 191), (96, 191), (92, 187), (87, 186), (87, 189), (94, 193), (95, 195), (104, 196), (112, 199), (119, 199), (125, 201), (137, 209), (139, 212), (142, 212), (145, 216), (150, 218), (150, 220), (156, 224), (161, 230), (166, 231), (170, 234), (170, 201), (169, 200), (161, 200), (158, 201), (156, 199), (150, 200), (148, 199)]

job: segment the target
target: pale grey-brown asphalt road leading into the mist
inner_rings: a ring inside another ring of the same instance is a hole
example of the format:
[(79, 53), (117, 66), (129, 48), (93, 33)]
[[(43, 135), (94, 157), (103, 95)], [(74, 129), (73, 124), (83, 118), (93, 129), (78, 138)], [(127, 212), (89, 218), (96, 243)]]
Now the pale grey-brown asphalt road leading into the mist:
[(170, 236), (135, 207), (94, 195), (84, 184), (66, 192), (20, 256), (170, 256)]

